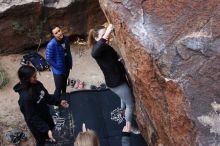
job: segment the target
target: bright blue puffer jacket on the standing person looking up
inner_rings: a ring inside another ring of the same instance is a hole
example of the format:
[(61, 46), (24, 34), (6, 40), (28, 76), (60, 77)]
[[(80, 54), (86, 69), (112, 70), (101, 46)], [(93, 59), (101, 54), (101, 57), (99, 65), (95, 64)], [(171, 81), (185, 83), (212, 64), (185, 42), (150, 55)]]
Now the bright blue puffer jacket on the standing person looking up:
[(64, 36), (64, 42), (67, 49), (67, 58), (64, 57), (64, 49), (55, 38), (47, 44), (46, 60), (51, 65), (54, 74), (60, 75), (69, 72), (72, 68), (72, 55), (70, 52), (69, 39)]

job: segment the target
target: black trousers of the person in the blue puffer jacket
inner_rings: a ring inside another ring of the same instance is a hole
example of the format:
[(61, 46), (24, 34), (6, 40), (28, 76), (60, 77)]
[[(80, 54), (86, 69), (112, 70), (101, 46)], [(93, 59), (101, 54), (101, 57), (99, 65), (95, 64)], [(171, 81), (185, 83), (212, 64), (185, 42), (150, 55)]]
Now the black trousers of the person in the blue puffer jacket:
[(69, 71), (66, 74), (56, 75), (53, 74), (55, 82), (54, 96), (57, 98), (61, 97), (61, 93), (66, 93), (67, 79), (69, 76)]

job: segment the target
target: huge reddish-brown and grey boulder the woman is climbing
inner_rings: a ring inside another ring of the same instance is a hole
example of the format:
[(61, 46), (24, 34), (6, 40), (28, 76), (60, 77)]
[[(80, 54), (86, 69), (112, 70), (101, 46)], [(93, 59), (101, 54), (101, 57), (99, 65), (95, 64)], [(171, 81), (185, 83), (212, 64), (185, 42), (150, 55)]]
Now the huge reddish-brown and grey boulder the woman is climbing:
[(220, 145), (220, 1), (100, 0), (150, 145)]

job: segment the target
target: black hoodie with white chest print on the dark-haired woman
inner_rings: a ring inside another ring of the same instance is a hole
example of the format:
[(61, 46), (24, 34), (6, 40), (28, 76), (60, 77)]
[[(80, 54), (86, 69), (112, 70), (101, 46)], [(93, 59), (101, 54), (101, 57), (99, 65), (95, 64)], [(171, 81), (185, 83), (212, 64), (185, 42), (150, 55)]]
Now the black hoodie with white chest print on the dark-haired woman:
[(18, 104), (28, 127), (35, 139), (43, 142), (48, 138), (48, 130), (52, 130), (55, 126), (48, 104), (59, 105), (61, 100), (49, 95), (39, 81), (26, 86), (17, 83), (14, 91), (20, 95)]

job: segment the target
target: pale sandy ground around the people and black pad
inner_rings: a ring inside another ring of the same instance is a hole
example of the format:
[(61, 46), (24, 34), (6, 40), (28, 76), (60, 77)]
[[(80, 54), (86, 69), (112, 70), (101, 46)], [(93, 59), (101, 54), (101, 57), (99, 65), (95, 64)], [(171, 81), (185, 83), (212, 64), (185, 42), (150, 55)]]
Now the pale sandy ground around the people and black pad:
[[(104, 82), (101, 70), (95, 60), (90, 55), (90, 50), (83, 45), (71, 45), (73, 56), (73, 69), (70, 72), (70, 78), (85, 81), (85, 88), (89, 89), (91, 84), (100, 85)], [(40, 54), (45, 54), (45, 49), (41, 49)], [(28, 132), (23, 116), (18, 107), (18, 94), (13, 91), (13, 86), (18, 82), (17, 70), (20, 67), (22, 54), (0, 56), (0, 64), (8, 73), (10, 79), (7, 86), (0, 89), (0, 146), (13, 146), (4, 139), (4, 133), (12, 128), (19, 128), (28, 133), (28, 141), (21, 143), (20, 146), (34, 146), (33, 138)], [(38, 80), (41, 81), (49, 93), (54, 91), (53, 75), (50, 71), (38, 74)], [(68, 87), (67, 91), (75, 89)]]

